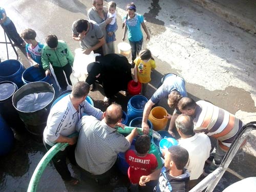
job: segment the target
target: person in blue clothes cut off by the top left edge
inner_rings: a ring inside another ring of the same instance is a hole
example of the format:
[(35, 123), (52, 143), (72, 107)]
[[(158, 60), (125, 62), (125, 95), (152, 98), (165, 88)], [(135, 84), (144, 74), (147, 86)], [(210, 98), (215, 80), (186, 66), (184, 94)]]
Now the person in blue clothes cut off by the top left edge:
[(12, 20), (6, 16), (5, 9), (0, 7), (0, 24), (4, 28), (8, 37), (14, 42), (14, 46), (26, 46), (26, 42), (19, 36), (15, 25), (12, 23)]

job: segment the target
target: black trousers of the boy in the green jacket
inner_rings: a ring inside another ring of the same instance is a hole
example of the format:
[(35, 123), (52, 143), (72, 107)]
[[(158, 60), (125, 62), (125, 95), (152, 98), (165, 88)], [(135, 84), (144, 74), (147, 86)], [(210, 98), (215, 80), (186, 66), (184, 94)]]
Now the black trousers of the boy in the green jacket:
[[(63, 66), (63, 67), (52, 66), (52, 68), (53, 68), (53, 71), (56, 75), (56, 78), (58, 80), (58, 83), (59, 83), (59, 86), (61, 89), (67, 89), (68, 83), (66, 81), (66, 77), (68, 79), (69, 84), (72, 86), (72, 83), (70, 80), (70, 75), (72, 73), (71, 65), (67, 64), (66, 66)], [(63, 71), (65, 72), (66, 77), (65, 77)]]

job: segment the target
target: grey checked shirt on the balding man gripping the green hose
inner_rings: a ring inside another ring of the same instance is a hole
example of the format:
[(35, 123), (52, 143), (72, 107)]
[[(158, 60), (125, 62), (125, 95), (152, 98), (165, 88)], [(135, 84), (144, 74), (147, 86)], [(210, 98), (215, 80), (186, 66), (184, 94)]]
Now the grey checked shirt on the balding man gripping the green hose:
[(130, 147), (129, 141), (117, 133), (116, 129), (93, 116), (84, 116), (76, 129), (79, 132), (75, 151), (77, 164), (94, 175), (109, 170), (117, 154)]

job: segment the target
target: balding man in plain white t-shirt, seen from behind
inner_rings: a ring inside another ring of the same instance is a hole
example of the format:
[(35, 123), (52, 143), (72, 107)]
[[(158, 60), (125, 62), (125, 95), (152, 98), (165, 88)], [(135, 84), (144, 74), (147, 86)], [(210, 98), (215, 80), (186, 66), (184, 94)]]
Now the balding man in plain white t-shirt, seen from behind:
[(204, 163), (210, 155), (210, 139), (203, 133), (194, 133), (193, 119), (187, 115), (179, 115), (175, 120), (175, 125), (181, 137), (179, 145), (189, 154), (186, 167), (190, 173), (190, 180), (199, 179), (203, 173)]

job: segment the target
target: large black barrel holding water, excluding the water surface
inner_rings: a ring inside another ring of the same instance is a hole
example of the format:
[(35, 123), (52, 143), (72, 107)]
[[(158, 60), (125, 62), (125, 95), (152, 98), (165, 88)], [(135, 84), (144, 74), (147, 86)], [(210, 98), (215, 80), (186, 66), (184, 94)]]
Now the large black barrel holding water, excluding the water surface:
[[(33, 93), (44, 93), (44, 92), (51, 92), (53, 93), (53, 97), (51, 98), (51, 101), (43, 106), (41, 109), (38, 109), (36, 111), (21, 111), (17, 109), (17, 102), (22, 99), (24, 96), (33, 94)], [(25, 126), (27, 130), (36, 136), (41, 136), (44, 132), (44, 129), (46, 127), (47, 118), (50, 113), (52, 102), (54, 101), (54, 88), (47, 82), (31, 82), (28, 84), (25, 84), (22, 88), (17, 90), (13, 97), (12, 97), (12, 103), (14, 108), (19, 114), (20, 119), (22, 119), (25, 123)]]

